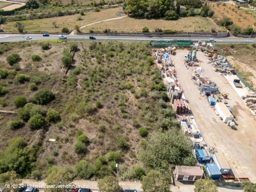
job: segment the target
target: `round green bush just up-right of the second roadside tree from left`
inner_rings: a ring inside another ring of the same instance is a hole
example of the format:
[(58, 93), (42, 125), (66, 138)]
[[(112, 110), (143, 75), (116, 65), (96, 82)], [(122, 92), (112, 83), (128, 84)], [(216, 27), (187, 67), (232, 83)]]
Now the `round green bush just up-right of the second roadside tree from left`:
[(93, 169), (88, 161), (81, 160), (74, 166), (74, 173), (81, 179), (90, 179), (93, 175)]

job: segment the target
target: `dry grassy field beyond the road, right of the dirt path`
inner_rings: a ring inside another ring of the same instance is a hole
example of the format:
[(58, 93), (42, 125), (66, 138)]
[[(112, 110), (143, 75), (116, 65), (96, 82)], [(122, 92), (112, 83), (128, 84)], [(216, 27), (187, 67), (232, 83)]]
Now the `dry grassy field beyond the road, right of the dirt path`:
[(95, 32), (102, 32), (105, 28), (109, 28), (111, 31), (117, 32), (141, 32), (144, 26), (147, 26), (150, 32), (154, 32), (155, 28), (185, 32), (211, 31), (212, 28), (215, 28), (216, 31), (223, 30), (222, 27), (217, 26), (211, 19), (203, 17), (185, 17), (179, 20), (146, 20), (127, 17), (95, 24), (84, 28), (82, 31), (89, 32), (92, 29)]

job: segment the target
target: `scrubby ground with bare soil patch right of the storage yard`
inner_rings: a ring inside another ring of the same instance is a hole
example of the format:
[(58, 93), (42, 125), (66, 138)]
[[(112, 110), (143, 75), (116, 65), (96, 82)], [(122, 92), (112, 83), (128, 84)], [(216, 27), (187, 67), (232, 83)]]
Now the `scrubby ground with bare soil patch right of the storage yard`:
[(218, 44), (225, 56), (232, 56), (230, 64), (256, 90), (256, 44)]

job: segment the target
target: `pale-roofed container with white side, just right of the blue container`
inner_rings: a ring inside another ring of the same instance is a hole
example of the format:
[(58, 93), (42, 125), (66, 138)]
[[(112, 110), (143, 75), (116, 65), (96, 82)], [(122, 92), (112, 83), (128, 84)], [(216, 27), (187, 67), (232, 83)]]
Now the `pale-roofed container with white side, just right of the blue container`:
[(222, 152), (215, 152), (212, 159), (219, 167), (219, 170), (222, 174), (229, 174), (229, 172), (231, 171), (231, 167), (229, 166), (229, 162), (227, 161), (225, 155)]

